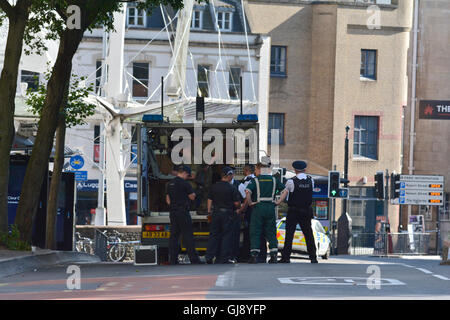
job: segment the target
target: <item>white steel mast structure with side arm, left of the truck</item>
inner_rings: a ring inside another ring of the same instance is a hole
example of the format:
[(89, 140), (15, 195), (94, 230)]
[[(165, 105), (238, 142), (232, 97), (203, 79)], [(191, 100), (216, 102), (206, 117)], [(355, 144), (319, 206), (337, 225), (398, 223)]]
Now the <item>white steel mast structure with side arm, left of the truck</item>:
[[(175, 52), (170, 67), (170, 87), (168, 96), (174, 100), (180, 98), (186, 79), (186, 60), (189, 44), (189, 30), (194, 1), (184, 1), (177, 23)], [(107, 45), (107, 80), (105, 81), (105, 99), (96, 97), (112, 116), (105, 127), (105, 157), (106, 165), (103, 171), (106, 175), (107, 224), (111, 226), (126, 225), (124, 178), (126, 169), (122, 150), (122, 122), (125, 118), (144, 113), (153, 109), (153, 105), (142, 108), (126, 108), (128, 96), (124, 94), (124, 45), (127, 4), (121, 12), (114, 14), (115, 32), (110, 32)], [(104, 37), (105, 41), (105, 37)], [(105, 45), (105, 44), (104, 44)], [(161, 99), (163, 97), (161, 96)], [(99, 183), (99, 193), (103, 192), (103, 184)], [(103, 197), (99, 196), (99, 200)], [(102, 201), (102, 200), (100, 200)], [(96, 223), (104, 223), (103, 203), (97, 208)]]

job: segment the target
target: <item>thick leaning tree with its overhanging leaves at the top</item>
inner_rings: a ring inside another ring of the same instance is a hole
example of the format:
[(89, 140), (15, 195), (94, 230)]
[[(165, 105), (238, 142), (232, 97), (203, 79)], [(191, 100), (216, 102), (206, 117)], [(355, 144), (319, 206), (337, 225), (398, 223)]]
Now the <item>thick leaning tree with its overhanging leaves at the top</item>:
[[(58, 123), (58, 110), (63, 101), (65, 86), (72, 71), (72, 58), (83, 39), (86, 30), (103, 25), (113, 28), (113, 13), (122, 10), (118, 0), (53, 0), (59, 18), (67, 22), (67, 9), (75, 5), (79, 8), (79, 28), (68, 28), (67, 23), (60, 25), (60, 44), (58, 57), (47, 85), (47, 95), (42, 108), (41, 119), (22, 185), (21, 197), (16, 213), (16, 224), (23, 240), (31, 240), (33, 217), (39, 203), (39, 191), (47, 170), (53, 145), (53, 137)], [(131, 1), (125, 1), (131, 2)], [(182, 8), (182, 0), (145, 0), (140, 8), (152, 9), (161, 3), (170, 4), (175, 9)]]

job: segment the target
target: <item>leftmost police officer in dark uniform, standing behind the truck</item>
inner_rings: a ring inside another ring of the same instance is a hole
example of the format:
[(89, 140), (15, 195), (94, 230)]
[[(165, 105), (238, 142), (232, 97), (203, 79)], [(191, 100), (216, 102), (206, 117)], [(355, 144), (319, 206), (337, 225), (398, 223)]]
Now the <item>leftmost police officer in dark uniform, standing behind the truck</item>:
[(191, 168), (180, 165), (176, 169), (177, 176), (168, 183), (166, 195), (166, 202), (170, 208), (169, 263), (178, 264), (181, 235), (191, 263), (201, 264), (195, 251), (192, 219), (189, 213), (190, 202), (195, 200), (194, 190), (186, 181), (191, 174)]

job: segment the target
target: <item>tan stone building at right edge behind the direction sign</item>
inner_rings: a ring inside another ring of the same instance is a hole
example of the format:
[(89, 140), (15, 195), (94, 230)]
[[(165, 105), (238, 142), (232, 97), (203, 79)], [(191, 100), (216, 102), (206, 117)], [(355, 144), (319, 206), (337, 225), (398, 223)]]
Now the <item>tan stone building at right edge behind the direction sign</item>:
[[(402, 206), (401, 216), (402, 224), (407, 225), (410, 215), (424, 215), (426, 230), (435, 230), (439, 221), (441, 239), (445, 240), (450, 232), (450, 110), (447, 110), (446, 117), (443, 112), (440, 119), (423, 119), (420, 104), (425, 100), (438, 100), (446, 102), (443, 105), (450, 105), (450, 2), (421, 0), (418, 3), (417, 81), (415, 84), (412, 81), (414, 60), (411, 50), (408, 67), (411, 94), (405, 109), (403, 173), (444, 176), (444, 205), (411, 206), (410, 212), (408, 206)], [(412, 33), (411, 48), (413, 41)], [(413, 87), (416, 89), (415, 103), (411, 103)], [(412, 119), (411, 105), (415, 111)], [(414, 123), (413, 128), (411, 123)], [(435, 240), (433, 236), (433, 245)]]

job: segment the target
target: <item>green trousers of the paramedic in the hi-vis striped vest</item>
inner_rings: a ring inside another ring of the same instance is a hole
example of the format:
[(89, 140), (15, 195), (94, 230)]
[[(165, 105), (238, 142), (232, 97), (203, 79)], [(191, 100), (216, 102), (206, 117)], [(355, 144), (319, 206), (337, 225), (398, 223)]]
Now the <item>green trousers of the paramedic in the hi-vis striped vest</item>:
[(262, 233), (269, 242), (270, 252), (277, 252), (277, 227), (273, 202), (259, 202), (253, 207), (250, 219), (250, 251), (253, 255), (257, 255), (260, 251)]

